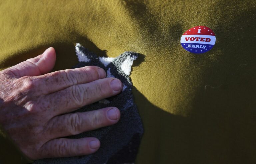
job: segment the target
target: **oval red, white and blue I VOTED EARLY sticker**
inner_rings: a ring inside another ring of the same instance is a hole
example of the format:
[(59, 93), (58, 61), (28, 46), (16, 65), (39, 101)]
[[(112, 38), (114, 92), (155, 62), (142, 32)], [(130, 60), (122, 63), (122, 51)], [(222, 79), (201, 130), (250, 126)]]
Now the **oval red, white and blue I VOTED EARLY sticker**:
[(212, 49), (215, 41), (214, 32), (206, 26), (192, 27), (180, 39), (180, 43), (185, 50), (196, 54), (202, 54)]

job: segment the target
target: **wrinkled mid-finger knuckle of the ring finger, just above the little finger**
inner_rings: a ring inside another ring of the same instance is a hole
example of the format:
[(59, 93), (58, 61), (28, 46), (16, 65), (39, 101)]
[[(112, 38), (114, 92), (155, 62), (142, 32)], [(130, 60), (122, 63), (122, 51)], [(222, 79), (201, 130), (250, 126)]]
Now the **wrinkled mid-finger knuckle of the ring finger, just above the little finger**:
[(69, 132), (71, 135), (78, 134), (81, 130), (82, 119), (79, 114), (74, 113), (68, 119)]

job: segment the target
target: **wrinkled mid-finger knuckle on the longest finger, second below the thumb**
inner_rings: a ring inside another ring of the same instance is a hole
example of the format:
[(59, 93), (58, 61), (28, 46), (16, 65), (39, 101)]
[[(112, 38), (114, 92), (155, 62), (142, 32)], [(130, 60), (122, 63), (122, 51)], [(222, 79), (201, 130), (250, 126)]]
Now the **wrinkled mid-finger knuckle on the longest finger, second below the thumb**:
[(85, 100), (88, 97), (86, 89), (84, 89), (81, 85), (72, 86), (71, 96), (74, 103), (78, 106), (81, 106), (83, 103), (83, 100)]

